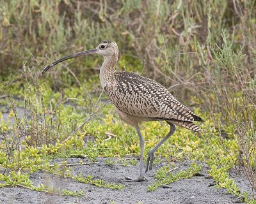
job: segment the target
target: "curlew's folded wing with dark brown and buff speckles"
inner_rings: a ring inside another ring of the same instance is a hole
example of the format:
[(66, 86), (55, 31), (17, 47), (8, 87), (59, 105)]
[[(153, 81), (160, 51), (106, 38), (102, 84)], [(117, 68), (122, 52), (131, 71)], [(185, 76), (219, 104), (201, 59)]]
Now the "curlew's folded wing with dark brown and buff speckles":
[(196, 120), (193, 112), (156, 81), (127, 71), (118, 71), (114, 77), (105, 92), (122, 112), (154, 119)]

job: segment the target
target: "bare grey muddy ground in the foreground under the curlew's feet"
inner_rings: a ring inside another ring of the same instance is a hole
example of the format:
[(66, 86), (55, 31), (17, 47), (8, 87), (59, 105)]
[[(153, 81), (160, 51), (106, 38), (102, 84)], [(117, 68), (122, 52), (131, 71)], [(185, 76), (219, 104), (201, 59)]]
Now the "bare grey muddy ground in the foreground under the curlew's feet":
[[(66, 160), (67, 163), (78, 163), (77, 158), (56, 159), (54, 162), (61, 163)], [(86, 194), (83, 197), (56, 196), (54, 194), (40, 193), (31, 191), (22, 187), (4, 187), (0, 191), (0, 203), (236, 203), (236, 198), (232, 194), (227, 194), (225, 189), (216, 189), (211, 184), (212, 179), (207, 178), (207, 165), (202, 164), (202, 173), (204, 176), (194, 176), (191, 179), (182, 179), (170, 184), (170, 188), (159, 187), (154, 192), (148, 192), (147, 186), (154, 182), (154, 173), (163, 164), (156, 164), (154, 170), (147, 173), (148, 181), (145, 182), (124, 182), (124, 178), (131, 175), (137, 175), (138, 164), (136, 166), (109, 166), (104, 158), (98, 158), (99, 163), (88, 166), (72, 166), (74, 174), (81, 172), (83, 175), (93, 175), (95, 179), (103, 179), (106, 182), (115, 182), (124, 184), (122, 190), (111, 190), (102, 187), (92, 186), (92, 184), (83, 184), (74, 182), (71, 179), (65, 179), (50, 173), (38, 171), (31, 175), (34, 185), (45, 184), (47, 186), (60, 187), (61, 189), (76, 190), (82, 189)], [(83, 159), (88, 162), (87, 159)], [(175, 164), (180, 169), (186, 169), (189, 161)], [(239, 186), (248, 190), (245, 178), (234, 174), (234, 178)]]

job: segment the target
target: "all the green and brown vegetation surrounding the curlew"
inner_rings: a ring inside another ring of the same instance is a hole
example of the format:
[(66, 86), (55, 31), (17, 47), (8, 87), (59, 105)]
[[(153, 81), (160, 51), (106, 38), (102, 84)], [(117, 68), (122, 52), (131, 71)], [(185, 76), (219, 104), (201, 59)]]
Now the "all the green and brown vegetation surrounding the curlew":
[[(179, 128), (157, 150), (155, 163), (203, 161), (216, 187), (255, 203), (255, 1), (10, 0), (0, 11), (0, 187), (84, 194), (33, 186), (29, 175), (39, 170), (99, 187), (125, 187), (72, 175), (73, 164), (51, 163), (85, 157), (91, 165), (107, 157), (108, 165), (136, 164), (126, 157), (140, 154), (136, 131), (118, 120), (102, 94), (102, 59), (77, 58), (40, 73), (63, 55), (115, 40), (119, 69), (154, 78), (205, 119), (200, 135)], [(160, 122), (143, 124), (145, 154), (167, 132)], [(246, 172), (252, 192), (241, 192), (230, 179), (235, 168)], [(171, 171), (169, 165), (159, 169), (148, 190), (192, 177), (200, 166)]]

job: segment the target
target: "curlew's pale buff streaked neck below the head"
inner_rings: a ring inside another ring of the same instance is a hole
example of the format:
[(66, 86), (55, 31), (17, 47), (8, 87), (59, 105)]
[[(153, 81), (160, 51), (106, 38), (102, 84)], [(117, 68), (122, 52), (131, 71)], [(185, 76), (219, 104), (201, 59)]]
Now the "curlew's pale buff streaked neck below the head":
[(106, 87), (109, 83), (111, 83), (111, 78), (113, 77), (113, 73), (116, 71), (116, 62), (118, 59), (118, 55), (110, 55), (104, 56), (104, 62), (100, 68), (100, 84), (102, 88)]

